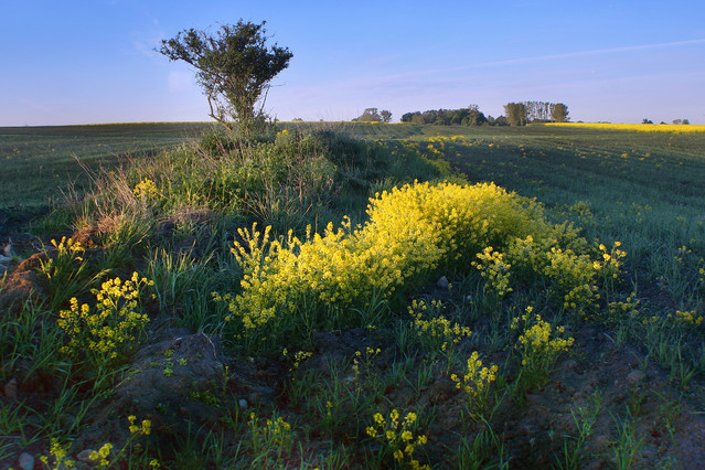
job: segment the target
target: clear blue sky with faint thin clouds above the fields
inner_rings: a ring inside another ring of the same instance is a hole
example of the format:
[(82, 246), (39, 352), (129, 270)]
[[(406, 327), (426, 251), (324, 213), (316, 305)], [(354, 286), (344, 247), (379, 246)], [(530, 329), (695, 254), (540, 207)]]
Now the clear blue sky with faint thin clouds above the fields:
[(266, 21), (288, 47), (265, 110), (350, 120), (510, 102), (573, 121), (705, 124), (705, 2), (0, 0), (0, 126), (207, 121), (192, 68), (156, 52)]

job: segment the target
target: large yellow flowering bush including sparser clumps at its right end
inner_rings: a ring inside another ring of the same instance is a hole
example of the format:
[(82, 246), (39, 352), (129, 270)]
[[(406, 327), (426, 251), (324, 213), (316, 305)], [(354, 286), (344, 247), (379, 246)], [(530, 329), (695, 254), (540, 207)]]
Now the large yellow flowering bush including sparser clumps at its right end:
[[(349, 218), (338, 229), (329, 224), (322, 235), (309, 227), (305, 241), (291, 231), (286, 239), (271, 239), (270, 227), (259, 232), (256, 224), (239, 229), (233, 254), (244, 270), (242, 291), (214, 297), (227, 303), (228, 320), (239, 319), (242, 338), (261, 344), (266, 337), (291, 339), (300, 324), (367, 324), (359, 312), (370, 310), (372, 300), (478, 258), (498, 295), (510, 291), (508, 270), (516, 264), (553, 282), (569, 307), (591, 299), (592, 260), (556, 246), (574, 243), (576, 233), (546, 222), (533, 200), (492, 183), (407, 184), (376, 194), (367, 214), (355, 228)], [(506, 259), (500, 254), (505, 248)]]

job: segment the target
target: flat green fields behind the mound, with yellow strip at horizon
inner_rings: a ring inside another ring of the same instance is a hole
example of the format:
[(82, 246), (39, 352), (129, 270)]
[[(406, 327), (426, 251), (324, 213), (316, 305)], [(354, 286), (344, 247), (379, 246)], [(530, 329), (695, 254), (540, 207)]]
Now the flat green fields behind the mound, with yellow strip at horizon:
[[(444, 158), (471, 182), (496, 184), (545, 204), (588, 239), (629, 242), (647, 260), (664, 245), (705, 252), (705, 132), (702, 126), (583, 125), (446, 127), (407, 124), (284, 122), (295, 130), (329, 129), (371, 140), (403, 140)], [(81, 168), (113, 165), (193, 140), (202, 122), (0, 128), (0, 209), (46, 206), (61, 191), (89, 180)], [(671, 132), (637, 132), (632, 128)], [(618, 129), (618, 130), (615, 130)], [(621, 129), (621, 130), (619, 130)], [(429, 141), (462, 136), (462, 140)], [(430, 148), (429, 148), (430, 146)]]

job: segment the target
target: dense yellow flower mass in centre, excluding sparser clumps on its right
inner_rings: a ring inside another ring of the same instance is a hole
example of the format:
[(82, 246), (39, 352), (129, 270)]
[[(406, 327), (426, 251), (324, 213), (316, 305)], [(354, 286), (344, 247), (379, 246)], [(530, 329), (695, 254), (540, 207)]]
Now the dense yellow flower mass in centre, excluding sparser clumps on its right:
[(243, 291), (214, 298), (228, 303), (229, 318), (241, 318), (245, 331), (254, 330), (300, 313), (303, 301), (309, 311), (364, 309), (434, 269), (469, 264), (488, 246), (557, 237), (538, 204), (492, 183), (407, 184), (376, 194), (367, 214), (362, 227), (345, 218), (322, 235), (309, 228), (306, 241), (291, 232), (270, 239), (270, 227), (239, 229), (233, 254), (244, 270)]

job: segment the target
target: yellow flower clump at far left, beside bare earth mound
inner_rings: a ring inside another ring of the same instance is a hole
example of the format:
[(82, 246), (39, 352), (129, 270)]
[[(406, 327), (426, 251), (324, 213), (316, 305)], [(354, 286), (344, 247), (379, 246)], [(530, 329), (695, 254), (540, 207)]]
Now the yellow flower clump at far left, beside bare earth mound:
[(93, 289), (95, 309), (71, 299), (71, 309), (62, 310), (56, 324), (70, 337), (61, 352), (77, 356), (85, 354), (96, 365), (107, 365), (127, 352), (139, 339), (149, 317), (138, 309), (140, 288), (153, 281), (137, 273), (122, 281), (119, 277)]

